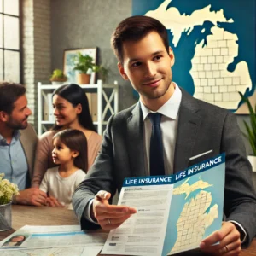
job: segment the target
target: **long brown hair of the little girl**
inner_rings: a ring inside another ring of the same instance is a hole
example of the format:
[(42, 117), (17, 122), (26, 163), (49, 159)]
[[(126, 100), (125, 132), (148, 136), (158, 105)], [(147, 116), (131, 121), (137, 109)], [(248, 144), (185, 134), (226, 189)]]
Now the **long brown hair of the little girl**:
[(66, 145), (70, 150), (79, 152), (79, 155), (74, 159), (73, 164), (87, 173), (87, 139), (84, 132), (76, 129), (66, 129), (57, 132), (52, 140), (54, 141), (56, 138), (58, 138), (61, 143)]

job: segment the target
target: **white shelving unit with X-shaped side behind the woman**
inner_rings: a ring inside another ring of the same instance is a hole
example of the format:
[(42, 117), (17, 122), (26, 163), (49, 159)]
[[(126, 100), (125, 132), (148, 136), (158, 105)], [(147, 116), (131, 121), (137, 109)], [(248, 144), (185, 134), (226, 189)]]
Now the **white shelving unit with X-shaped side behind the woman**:
[[(97, 80), (96, 84), (79, 84), (84, 92), (93, 92), (97, 94), (97, 121), (94, 122), (98, 133), (102, 135), (103, 125), (108, 122), (108, 110), (111, 114), (118, 112), (119, 106), (119, 85), (117, 81), (113, 84), (102, 84), (102, 80)], [(54, 125), (54, 120), (44, 120), (43, 104), (48, 102), (50, 92), (53, 92), (61, 85), (38, 83), (38, 136), (49, 130), (50, 125)]]

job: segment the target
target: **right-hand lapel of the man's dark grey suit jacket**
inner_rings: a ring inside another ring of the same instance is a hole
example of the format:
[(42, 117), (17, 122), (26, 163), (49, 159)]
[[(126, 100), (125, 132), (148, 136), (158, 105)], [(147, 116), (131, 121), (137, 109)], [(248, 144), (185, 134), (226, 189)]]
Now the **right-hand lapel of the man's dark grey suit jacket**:
[(174, 153), (173, 172), (179, 172), (188, 167), (189, 158), (195, 146), (201, 116), (198, 103), (182, 88), (182, 101), (178, 115), (177, 138)]

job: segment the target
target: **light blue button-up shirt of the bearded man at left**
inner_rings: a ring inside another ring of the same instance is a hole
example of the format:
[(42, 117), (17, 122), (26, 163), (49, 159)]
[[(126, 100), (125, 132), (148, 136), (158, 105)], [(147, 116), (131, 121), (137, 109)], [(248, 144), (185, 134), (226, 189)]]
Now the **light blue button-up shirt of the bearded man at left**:
[(26, 155), (20, 143), (20, 131), (15, 131), (10, 143), (0, 134), (0, 173), (4, 178), (18, 185), (19, 190), (26, 189), (28, 166)]

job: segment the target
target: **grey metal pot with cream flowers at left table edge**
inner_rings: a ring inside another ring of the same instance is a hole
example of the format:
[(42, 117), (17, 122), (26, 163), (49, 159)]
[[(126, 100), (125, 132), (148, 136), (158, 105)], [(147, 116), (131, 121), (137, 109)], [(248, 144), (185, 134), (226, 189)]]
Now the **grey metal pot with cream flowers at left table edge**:
[(16, 184), (3, 179), (4, 174), (0, 173), (0, 231), (10, 230), (12, 226), (12, 198), (19, 195)]

